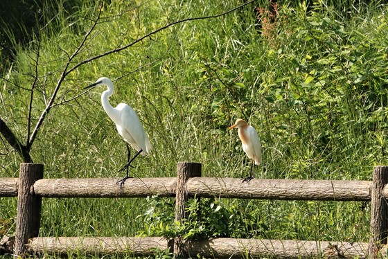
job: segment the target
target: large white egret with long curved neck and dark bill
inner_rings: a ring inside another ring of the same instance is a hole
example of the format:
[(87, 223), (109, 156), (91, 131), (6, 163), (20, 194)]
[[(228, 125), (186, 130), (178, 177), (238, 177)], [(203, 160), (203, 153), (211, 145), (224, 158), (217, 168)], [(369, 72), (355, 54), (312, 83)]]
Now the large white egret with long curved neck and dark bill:
[[(120, 183), (120, 188), (123, 188), (125, 180), (131, 178), (128, 175), (128, 170), (129, 167), (133, 167), (131, 166), (132, 161), (134, 161), (134, 159), (139, 156), (139, 154), (149, 154), (152, 145), (150, 143), (150, 139), (148, 139), (147, 134), (145, 134), (144, 127), (141, 124), (139, 117), (129, 105), (124, 102), (121, 102), (114, 108), (112, 107), (112, 105), (109, 104), (109, 96), (112, 96), (114, 92), (113, 83), (109, 78), (99, 78), (94, 84), (90, 84), (84, 89), (98, 87), (101, 85), (105, 85), (107, 87), (107, 90), (103, 91), (103, 93), (101, 94), (101, 103), (103, 105), (103, 108), (109, 118), (111, 118), (116, 124), (118, 134), (123, 137), (127, 145), (127, 164), (123, 166), (123, 168), (118, 170), (118, 172), (127, 170), (127, 175), (117, 182)], [(137, 150), (137, 154), (135, 154), (132, 159), (130, 159), (131, 152), (128, 144), (130, 144), (132, 148)]]

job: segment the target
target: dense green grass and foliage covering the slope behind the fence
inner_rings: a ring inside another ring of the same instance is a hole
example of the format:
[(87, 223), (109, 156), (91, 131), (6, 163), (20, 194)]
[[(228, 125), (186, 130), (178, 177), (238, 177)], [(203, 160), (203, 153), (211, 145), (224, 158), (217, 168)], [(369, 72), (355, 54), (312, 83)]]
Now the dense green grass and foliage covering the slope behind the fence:
[[(53, 5), (50, 10), (58, 13), (42, 15), (39, 33), (27, 44), (12, 45), (14, 61), (0, 78), (0, 118), (26, 142), (98, 10), (96, 27), (70, 66), (174, 21), (217, 15), (240, 4), (84, 1), (71, 12), (62, 3)], [(206, 177), (247, 175), (249, 161), (237, 134), (226, 130), (236, 118), (246, 118), (263, 145), (258, 177), (371, 179), (373, 166), (387, 164), (387, 10), (380, 3), (338, 8), (325, 1), (309, 6), (257, 1), (222, 17), (170, 26), (69, 73), (31, 157), (44, 164), (46, 178), (121, 177), (125, 144), (100, 106), (102, 89), (81, 94), (82, 87), (107, 76), (117, 79), (112, 105), (130, 104), (154, 147), (149, 157), (136, 159), (135, 177), (173, 177), (177, 161), (202, 163)], [(3, 138), (0, 153), (0, 177), (17, 177), (21, 159)], [(0, 236), (12, 235), (16, 199), (0, 201)], [(44, 199), (41, 234), (186, 231), (188, 238), (369, 239), (369, 205), (359, 202), (204, 199), (206, 215), (193, 232), (172, 222), (171, 202)], [(209, 222), (220, 226), (211, 229)]]

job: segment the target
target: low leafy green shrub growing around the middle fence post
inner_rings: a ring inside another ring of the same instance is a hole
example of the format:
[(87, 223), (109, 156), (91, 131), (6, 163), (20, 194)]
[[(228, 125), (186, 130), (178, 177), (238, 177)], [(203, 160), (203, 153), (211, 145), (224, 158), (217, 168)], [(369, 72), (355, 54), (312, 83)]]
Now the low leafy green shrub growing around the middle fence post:
[(148, 197), (148, 208), (139, 215), (144, 222), (144, 230), (139, 235), (181, 236), (186, 240), (204, 238), (254, 238), (262, 234), (267, 226), (257, 222), (255, 213), (247, 214), (243, 206), (227, 205), (220, 199), (193, 198), (186, 203), (188, 217), (176, 222), (175, 206), (168, 199)]

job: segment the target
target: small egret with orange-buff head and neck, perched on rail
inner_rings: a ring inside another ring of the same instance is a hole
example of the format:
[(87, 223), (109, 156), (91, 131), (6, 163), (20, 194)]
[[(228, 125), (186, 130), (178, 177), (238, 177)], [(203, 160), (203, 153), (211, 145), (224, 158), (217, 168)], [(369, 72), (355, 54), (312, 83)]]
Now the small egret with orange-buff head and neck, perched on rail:
[(249, 126), (248, 123), (241, 118), (236, 120), (236, 123), (234, 123), (234, 125), (231, 125), (228, 130), (232, 129), (233, 127), (238, 128), (238, 137), (240, 138), (241, 143), (243, 144), (243, 150), (245, 151), (245, 153), (247, 153), (247, 156), (252, 161), (249, 177), (243, 180), (243, 182), (249, 182), (254, 179), (254, 165), (259, 165), (261, 163), (260, 139), (258, 138), (258, 134), (255, 128)]

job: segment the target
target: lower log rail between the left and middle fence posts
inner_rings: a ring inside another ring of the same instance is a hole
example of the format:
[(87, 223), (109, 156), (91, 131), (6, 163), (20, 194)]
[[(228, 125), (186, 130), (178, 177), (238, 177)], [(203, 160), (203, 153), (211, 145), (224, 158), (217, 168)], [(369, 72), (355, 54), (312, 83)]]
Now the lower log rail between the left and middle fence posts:
[(162, 251), (172, 247), (166, 238), (33, 238), (28, 244), (30, 253), (86, 254), (133, 253), (134, 256), (150, 256), (158, 247)]

